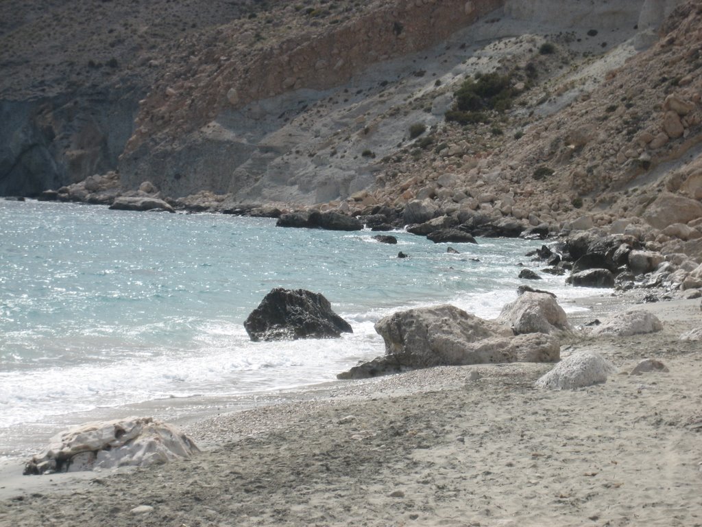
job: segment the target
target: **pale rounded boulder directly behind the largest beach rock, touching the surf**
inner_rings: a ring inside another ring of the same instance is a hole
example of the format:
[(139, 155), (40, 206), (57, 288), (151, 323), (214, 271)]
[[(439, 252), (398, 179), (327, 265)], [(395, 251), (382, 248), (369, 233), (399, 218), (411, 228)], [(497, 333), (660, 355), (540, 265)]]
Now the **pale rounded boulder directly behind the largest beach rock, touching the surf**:
[(571, 330), (563, 308), (545, 293), (520, 295), (502, 309), (496, 322), (511, 327), (517, 334)]

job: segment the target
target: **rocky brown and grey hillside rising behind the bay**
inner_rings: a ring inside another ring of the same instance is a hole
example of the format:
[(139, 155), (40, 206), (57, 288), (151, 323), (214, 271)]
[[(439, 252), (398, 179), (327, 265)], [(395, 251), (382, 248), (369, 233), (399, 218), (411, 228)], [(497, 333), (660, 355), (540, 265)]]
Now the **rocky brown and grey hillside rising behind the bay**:
[[(109, 199), (430, 200), (552, 230), (702, 197), (700, 1), (112, 4), (8, 11), (0, 193), (91, 176)], [(467, 79), (508, 97), (456, 113)]]

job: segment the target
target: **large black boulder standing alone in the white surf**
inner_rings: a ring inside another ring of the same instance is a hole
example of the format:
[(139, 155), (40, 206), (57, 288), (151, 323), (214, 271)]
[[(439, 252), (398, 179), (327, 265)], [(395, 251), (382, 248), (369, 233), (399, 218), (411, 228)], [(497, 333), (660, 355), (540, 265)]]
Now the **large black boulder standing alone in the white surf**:
[(244, 321), (253, 341), (327, 339), (353, 330), (322, 294), (278, 287)]

